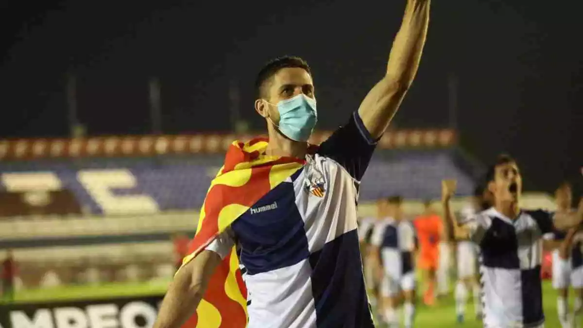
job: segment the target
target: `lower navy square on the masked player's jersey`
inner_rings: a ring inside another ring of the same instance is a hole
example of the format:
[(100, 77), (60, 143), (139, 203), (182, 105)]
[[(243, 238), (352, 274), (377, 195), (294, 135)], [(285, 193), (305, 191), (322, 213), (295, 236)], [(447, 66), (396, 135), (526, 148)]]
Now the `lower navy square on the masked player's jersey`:
[(310, 266), (318, 327), (374, 328), (356, 230), (311, 254)]

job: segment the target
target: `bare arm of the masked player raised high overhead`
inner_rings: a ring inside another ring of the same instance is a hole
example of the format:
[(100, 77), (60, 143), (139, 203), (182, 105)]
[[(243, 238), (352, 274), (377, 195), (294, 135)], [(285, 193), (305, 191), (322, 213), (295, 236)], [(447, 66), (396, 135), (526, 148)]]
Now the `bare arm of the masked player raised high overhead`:
[(389, 55), (387, 72), (360, 104), (359, 116), (375, 139), (387, 130), (413, 83), (427, 36), (430, 2), (407, 0), (401, 29)]

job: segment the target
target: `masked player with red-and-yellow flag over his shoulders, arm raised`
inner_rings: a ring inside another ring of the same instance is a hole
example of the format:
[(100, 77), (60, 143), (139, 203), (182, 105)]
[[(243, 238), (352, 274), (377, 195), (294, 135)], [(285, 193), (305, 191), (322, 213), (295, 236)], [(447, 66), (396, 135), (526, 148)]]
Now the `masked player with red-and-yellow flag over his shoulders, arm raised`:
[(358, 185), (413, 82), (429, 9), (430, 0), (406, 2), (382, 78), (317, 149), (307, 142), (317, 92), (306, 62), (283, 57), (261, 69), (255, 110), (269, 138), (227, 150), (155, 328), (178, 328), (195, 310), (199, 327), (373, 327)]

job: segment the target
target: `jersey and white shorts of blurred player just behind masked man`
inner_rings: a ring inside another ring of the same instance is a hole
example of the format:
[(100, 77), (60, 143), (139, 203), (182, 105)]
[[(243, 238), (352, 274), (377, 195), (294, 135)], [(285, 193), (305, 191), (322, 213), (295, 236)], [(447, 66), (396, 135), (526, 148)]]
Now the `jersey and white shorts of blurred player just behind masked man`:
[(371, 243), (378, 246), (384, 268), (381, 295), (392, 297), (415, 288), (415, 228), (409, 221), (385, 218), (375, 226)]

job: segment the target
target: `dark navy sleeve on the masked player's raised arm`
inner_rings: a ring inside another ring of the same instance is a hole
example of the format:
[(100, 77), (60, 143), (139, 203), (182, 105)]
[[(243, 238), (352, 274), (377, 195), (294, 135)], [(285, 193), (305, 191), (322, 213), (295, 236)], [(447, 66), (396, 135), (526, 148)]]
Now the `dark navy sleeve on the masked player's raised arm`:
[(318, 148), (318, 155), (335, 160), (357, 181), (362, 179), (378, 139), (373, 139), (358, 111)]

